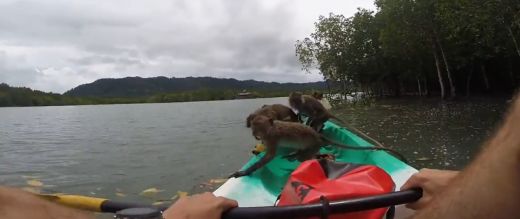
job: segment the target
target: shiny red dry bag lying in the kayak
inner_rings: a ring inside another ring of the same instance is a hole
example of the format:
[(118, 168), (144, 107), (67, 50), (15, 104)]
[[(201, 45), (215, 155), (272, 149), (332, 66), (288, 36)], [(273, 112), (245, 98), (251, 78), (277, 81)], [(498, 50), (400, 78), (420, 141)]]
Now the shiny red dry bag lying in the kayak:
[[(328, 160), (303, 162), (292, 172), (277, 206), (315, 204), (392, 192), (395, 184), (384, 170), (372, 165)], [(381, 219), (388, 208), (330, 215), (331, 219)]]

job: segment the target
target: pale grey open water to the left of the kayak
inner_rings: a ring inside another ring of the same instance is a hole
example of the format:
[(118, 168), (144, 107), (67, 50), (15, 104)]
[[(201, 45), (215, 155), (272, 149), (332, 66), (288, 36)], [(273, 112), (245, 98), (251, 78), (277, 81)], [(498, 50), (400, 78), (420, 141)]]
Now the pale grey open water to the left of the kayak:
[(170, 199), (238, 170), (256, 143), (246, 116), (285, 101), (0, 108), (0, 184), (31, 176), (46, 192), (139, 201), (156, 187)]

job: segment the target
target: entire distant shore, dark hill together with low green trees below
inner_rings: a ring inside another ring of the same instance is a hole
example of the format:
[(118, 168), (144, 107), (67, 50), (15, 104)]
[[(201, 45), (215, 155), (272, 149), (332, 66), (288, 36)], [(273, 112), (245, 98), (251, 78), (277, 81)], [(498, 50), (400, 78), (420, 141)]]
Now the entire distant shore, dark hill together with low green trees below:
[(200, 78), (100, 79), (80, 85), (65, 94), (46, 93), (0, 83), (2, 106), (52, 106), (126, 103), (167, 103), (230, 100), (247, 90), (248, 98), (282, 97), (292, 91), (325, 90), (324, 82), (274, 83), (254, 80)]

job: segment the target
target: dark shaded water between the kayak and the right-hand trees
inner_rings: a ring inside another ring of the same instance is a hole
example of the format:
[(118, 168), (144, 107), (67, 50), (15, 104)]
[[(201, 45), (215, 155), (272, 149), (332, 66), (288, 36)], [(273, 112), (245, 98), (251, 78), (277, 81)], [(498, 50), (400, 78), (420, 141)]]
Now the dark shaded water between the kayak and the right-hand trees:
[(402, 152), (416, 168), (460, 169), (479, 151), (505, 107), (505, 100), (406, 99), (341, 107), (334, 113)]

